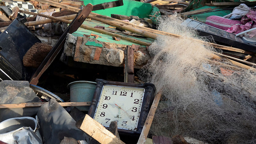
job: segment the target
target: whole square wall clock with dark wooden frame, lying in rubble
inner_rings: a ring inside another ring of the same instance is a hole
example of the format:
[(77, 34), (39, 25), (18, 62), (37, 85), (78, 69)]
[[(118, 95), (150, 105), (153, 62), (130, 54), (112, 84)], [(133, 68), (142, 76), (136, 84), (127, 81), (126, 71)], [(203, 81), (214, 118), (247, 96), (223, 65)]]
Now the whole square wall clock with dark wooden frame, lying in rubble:
[(134, 84), (96, 79), (88, 115), (109, 127), (117, 122), (121, 134), (140, 134), (154, 100), (154, 84)]

